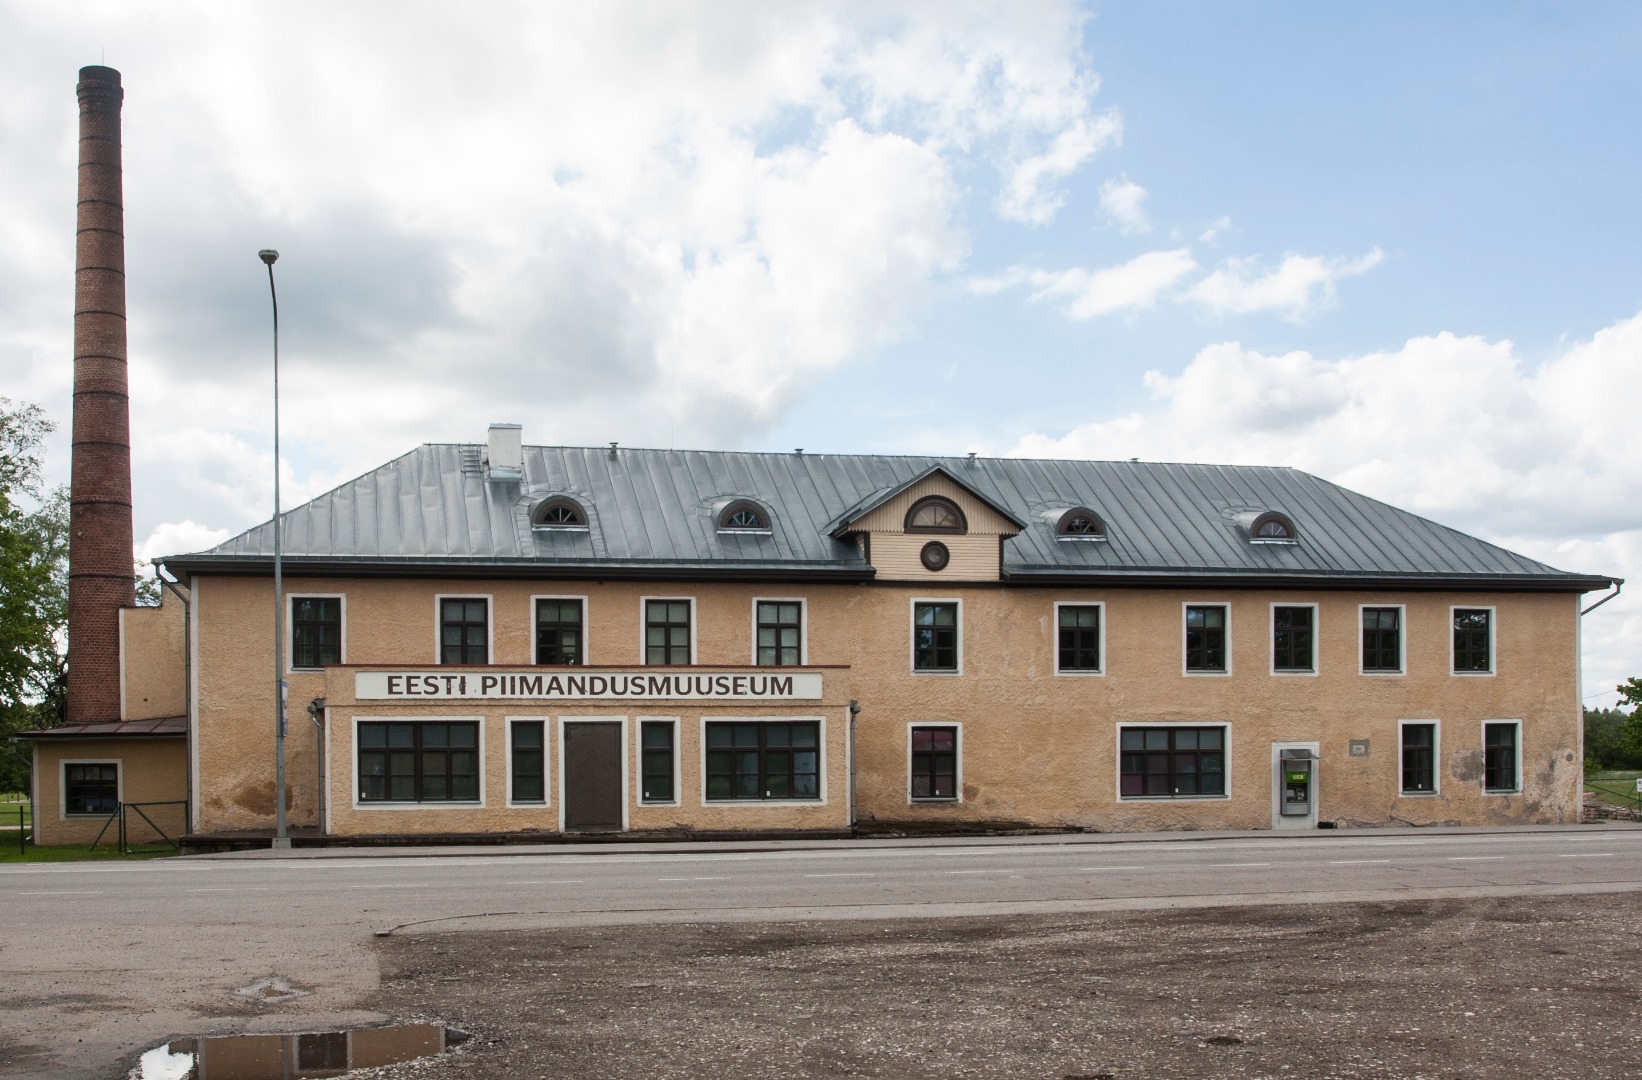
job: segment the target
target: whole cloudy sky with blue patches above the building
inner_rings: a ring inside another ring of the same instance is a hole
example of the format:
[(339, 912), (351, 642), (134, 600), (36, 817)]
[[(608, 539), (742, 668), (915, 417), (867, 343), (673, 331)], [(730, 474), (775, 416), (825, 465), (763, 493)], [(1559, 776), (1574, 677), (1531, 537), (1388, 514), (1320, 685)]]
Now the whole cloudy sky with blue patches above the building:
[[(107, 62), (144, 555), (268, 515), (274, 246), (287, 502), (493, 420), (1235, 461), (1639, 579), (1637, 56), (1635, 3), (0, 0), (0, 394), (66, 479)], [(1642, 597), (1585, 652), (1608, 704)]]

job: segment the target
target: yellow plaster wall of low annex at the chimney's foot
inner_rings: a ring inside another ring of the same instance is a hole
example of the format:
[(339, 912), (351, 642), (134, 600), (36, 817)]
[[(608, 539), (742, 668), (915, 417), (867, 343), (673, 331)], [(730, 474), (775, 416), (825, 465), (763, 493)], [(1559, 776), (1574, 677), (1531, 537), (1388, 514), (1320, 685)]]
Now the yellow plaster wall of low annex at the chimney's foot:
[[(34, 744), (34, 844), (90, 844), (107, 816), (62, 812), (64, 762), (118, 762), (123, 803), (176, 803), (187, 798), (187, 753), (182, 739), (84, 739)], [(144, 806), (144, 812), (172, 839), (184, 831), (181, 806)], [(118, 840), (108, 826), (103, 842)], [(126, 837), (136, 844), (158, 839), (135, 812), (126, 814)]]

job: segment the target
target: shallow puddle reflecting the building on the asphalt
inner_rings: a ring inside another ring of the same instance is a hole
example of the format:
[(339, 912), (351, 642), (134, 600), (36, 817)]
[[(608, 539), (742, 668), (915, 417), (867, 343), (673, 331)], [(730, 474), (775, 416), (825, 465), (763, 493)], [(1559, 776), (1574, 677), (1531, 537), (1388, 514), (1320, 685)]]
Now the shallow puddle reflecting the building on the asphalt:
[(304, 1080), (437, 1057), (468, 1036), (440, 1024), (172, 1039), (143, 1054), (126, 1080)]

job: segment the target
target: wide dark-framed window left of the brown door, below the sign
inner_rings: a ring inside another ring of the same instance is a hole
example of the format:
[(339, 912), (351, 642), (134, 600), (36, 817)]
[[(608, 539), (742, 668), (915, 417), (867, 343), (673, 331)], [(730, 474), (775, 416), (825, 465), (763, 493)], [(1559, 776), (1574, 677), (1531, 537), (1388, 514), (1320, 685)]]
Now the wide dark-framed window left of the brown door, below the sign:
[(475, 803), (479, 725), (471, 721), (361, 722), (361, 803)]

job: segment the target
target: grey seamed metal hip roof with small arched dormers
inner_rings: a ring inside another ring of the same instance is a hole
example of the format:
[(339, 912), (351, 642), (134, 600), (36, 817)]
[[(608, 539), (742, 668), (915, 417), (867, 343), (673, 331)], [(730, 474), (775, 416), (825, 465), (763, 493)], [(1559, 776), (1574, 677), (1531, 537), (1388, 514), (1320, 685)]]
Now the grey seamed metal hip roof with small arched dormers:
[[(1571, 574), (1289, 468), (724, 453), (525, 446), (524, 479), (486, 479), (483, 446), (430, 443), (282, 515), (292, 571), (512, 573), (598, 576), (872, 576), (829, 527), (944, 469), (1025, 522), (1003, 540), (1018, 581), (1227, 579), (1404, 583), (1588, 591), (1611, 579)], [(588, 529), (530, 527), (530, 509), (570, 496)], [(719, 532), (714, 509), (754, 499), (768, 533)], [(1054, 535), (1054, 510), (1084, 506), (1105, 542)], [(1279, 510), (1299, 543), (1250, 543), (1238, 515)], [(172, 573), (266, 573), (268, 522)]]

